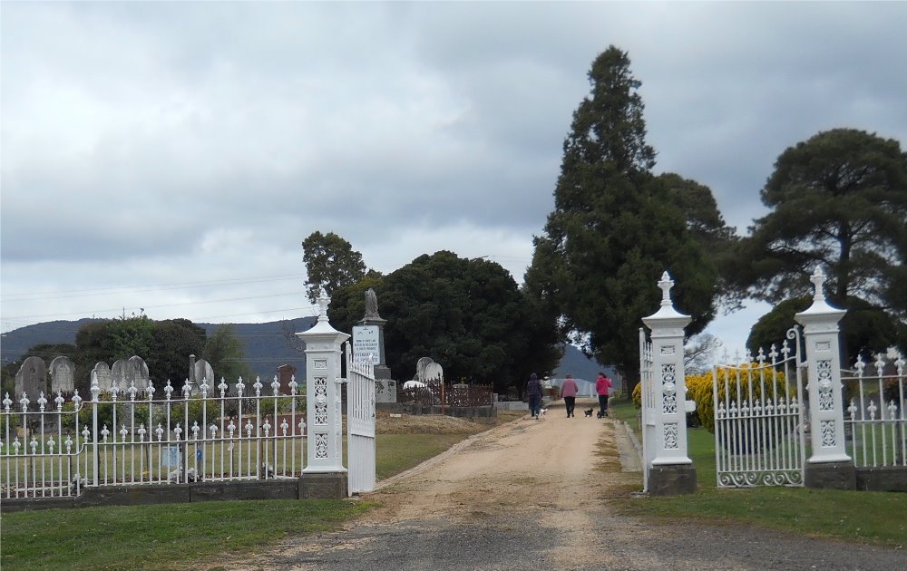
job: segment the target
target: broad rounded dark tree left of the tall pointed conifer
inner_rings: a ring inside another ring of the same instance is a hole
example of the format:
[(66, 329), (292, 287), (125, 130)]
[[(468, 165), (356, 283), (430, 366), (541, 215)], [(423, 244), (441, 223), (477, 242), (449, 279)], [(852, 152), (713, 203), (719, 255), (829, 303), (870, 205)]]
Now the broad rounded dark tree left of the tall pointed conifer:
[[(521, 386), (529, 373), (550, 373), (560, 358), (553, 323), (547, 330), (513, 277), (499, 264), (441, 251), (419, 256), (380, 279), (332, 296), (331, 323), (349, 331), (374, 287), (385, 326), (385, 361), (411, 378), (421, 357), (444, 367), (448, 380)], [(547, 337), (545, 333), (547, 331)]]

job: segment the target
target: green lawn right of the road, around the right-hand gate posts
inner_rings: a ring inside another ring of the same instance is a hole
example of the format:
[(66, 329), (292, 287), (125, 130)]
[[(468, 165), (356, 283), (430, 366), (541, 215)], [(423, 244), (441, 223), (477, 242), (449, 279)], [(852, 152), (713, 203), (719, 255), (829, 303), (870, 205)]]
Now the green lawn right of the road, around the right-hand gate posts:
[[(631, 402), (611, 402), (612, 415), (638, 431)], [(706, 523), (742, 523), (888, 547), (907, 547), (907, 494), (806, 488), (717, 489), (715, 437), (688, 429), (697, 493), (669, 498), (619, 498), (626, 514)], [(640, 481), (641, 488), (641, 481)]]

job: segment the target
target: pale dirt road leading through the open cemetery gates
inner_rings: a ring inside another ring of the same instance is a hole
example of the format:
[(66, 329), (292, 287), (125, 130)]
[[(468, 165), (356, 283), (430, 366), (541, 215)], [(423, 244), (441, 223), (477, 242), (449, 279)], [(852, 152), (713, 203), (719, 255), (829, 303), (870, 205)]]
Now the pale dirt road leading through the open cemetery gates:
[[(379, 483), (346, 530), (286, 544), (237, 569), (895, 569), (902, 551), (751, 527), (653, 525), (609, 498), (639, 489), (618, 423), (562, 405), (475, 435)], [(603, 451), (600, 451), (603, 450)], [(623, 461), (621, 461), (621, 459)], [(640, 501), (644, 501), (640, 499)]]

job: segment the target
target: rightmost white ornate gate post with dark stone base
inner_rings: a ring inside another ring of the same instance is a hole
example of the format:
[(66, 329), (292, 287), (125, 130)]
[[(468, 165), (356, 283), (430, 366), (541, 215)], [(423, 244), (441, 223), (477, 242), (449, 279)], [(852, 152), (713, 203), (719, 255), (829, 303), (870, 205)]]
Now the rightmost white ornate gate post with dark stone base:
[(805, 485), (807, 488), (856, 489), (856, 470), (845, 449), (838, 345), (838, 322), (846, 312), (825, 302), (825, 276), (819, 267), (809, 279), (815, 286), (813, 305), (795, 315), (804, 328), (813, 449), (804, 470)]

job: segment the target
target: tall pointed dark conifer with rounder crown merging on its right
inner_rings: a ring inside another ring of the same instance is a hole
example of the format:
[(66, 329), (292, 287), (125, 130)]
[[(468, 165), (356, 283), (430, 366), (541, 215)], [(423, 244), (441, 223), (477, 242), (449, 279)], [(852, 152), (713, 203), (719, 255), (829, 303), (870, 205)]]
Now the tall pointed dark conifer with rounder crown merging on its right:
[[(627, 53), (611, 46), (592, 63), (591, 92), (564, 141), (554, 210), (525, 282), (561, 330), (600, 363), (639, 377), (640, 318), (658, 307), (668, 270), (688, 334), (715, 315), (717, 256), (732, 236), (711, 191), (678, 175), (654, 176), (645, 142), (640, 82)], [(628, 387), (631, 388), (631, 387)]]

